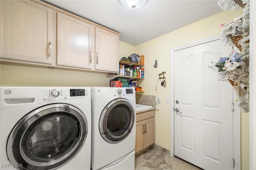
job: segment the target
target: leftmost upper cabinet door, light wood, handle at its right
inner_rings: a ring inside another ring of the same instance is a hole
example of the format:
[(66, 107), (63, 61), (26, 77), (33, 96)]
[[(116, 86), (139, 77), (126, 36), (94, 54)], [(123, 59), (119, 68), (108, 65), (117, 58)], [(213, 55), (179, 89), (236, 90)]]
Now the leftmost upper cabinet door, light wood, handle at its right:
[(27, 0), (0, 3), (1, 61), (52, 64), (52, 9)]

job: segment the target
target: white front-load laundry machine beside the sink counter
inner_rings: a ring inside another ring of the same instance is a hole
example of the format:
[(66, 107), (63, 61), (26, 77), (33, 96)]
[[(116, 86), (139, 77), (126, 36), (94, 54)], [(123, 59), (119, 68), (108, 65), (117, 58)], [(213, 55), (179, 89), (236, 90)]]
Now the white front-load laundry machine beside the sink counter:
[(91, 169), (134, 169), (135, 89), (91, 88), (91, 96)]

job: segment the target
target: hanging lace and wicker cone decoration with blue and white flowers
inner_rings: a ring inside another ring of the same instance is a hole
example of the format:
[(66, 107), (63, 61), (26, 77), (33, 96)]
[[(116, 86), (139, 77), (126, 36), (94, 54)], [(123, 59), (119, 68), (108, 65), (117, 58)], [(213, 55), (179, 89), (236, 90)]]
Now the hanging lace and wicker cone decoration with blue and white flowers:
[[(250, 0), (219, 0), (223, 10), (244, 11), (241, 16), (230, 23), (221, 23), (220, 41), (230, 45), (233, 50), (228, 57), (220, 57), (218, 62), (211, 62), (214, 70), (218, 70), (218, 80), (229, 81), (236, 90), (237, 103), (241, 111), (249, 111), (249, 48), (250, 48)], [(237, 48), (234, 51), (234, 47)]]

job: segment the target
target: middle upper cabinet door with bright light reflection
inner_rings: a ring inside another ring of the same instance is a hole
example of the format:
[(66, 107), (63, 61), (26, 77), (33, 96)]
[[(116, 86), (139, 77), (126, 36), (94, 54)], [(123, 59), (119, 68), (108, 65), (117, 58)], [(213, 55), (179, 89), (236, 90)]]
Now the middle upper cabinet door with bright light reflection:
[(57, 65), (92, 69), (95, 27), (61, 12), (57, 15)]

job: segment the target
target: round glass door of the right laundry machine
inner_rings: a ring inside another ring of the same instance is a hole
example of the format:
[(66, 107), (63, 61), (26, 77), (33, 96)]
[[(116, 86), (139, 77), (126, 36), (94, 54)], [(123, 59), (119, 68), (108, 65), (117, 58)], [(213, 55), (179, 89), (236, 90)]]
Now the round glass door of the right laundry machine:
[(100, 115), (100, 134), (108, 143), (123, 141), (134, 125), (135, 111), (132, 104), (123, 98), (110, 102)]

